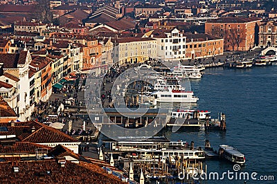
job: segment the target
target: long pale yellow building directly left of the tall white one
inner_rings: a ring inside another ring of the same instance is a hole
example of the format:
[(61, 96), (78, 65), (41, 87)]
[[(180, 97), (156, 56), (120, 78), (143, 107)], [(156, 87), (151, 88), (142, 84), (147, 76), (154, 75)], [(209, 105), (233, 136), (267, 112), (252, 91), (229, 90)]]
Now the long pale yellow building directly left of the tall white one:
[(114, 44), (114, 63), (134, 64), (157, 58), (157, 41), (151, 37), (125, 37), (111, 42)]

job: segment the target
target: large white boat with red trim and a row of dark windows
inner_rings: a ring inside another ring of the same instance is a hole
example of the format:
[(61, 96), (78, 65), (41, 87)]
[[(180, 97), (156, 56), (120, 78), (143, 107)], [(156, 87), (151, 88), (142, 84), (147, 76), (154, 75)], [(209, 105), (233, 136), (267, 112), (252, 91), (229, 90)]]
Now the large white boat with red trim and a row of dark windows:
[(186, 91), (184, 89), (168, 89), (166, 91), (157, 91), (152, 93), (157, 102), (190, 102), (196, 103), (199, 100), (193, 95), (193, 91)]

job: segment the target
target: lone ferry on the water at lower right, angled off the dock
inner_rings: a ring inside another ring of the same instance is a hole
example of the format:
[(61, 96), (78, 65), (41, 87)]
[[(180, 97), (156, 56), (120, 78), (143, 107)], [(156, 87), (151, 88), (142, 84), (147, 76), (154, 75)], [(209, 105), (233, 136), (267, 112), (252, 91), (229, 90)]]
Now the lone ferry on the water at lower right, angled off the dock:
[(221, 158), (225, 158), (226, 160), (229, 160), (232, 163), (241, 165), (245, 163), (244, 154), (240, 153), (240, 151), (229, 145), (220, 145), (218, 154)]

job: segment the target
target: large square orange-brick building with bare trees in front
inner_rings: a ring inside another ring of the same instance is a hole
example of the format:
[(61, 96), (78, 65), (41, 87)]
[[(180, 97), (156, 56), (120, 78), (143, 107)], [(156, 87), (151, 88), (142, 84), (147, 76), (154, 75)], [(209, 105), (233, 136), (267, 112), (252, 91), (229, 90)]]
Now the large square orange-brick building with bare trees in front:
[(221, 17), (205, 23), (205, 33), (224, 38), (224, 50), (250, 50), (257, 44), (258, 25), (256, 17)]

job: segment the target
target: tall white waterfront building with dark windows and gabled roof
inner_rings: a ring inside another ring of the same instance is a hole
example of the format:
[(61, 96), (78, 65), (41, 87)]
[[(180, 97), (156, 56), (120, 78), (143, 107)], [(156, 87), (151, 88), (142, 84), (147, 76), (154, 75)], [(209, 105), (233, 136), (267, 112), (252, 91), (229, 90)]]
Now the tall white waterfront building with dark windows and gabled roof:
[(157, 58), (166, 61), (186, 58), (186, 36), (177, 28), (172, 30), (156, 29), (143, 37), (157, 40)]

